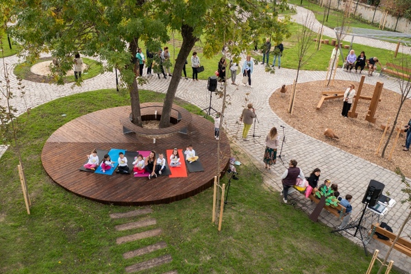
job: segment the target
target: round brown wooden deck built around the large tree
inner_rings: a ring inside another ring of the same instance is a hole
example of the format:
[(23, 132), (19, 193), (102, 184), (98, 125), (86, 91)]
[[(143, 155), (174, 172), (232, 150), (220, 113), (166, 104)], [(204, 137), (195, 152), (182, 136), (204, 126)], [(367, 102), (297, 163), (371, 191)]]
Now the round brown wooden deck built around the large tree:
[[(76, 195), (121, 206), (144, 206), (171, 203), (185, 199), (212, 186), (216, 175), (217, 141), (214, 125), (200, 116), (192, 115), (188, 134), (174, 134), (167, 138), (142, 138), (136, 134), (123, 134), (121, 119), (131, 112), (129, 106), (110, 108), (81, 116), (56, 130), (42, 150), (42, 164), (53, 181)], [(92, 149), (166, 152), (166, 149), (185, 150), (192, 144), (199, 155), (204, 171), (188, 172), (188, 177), (159, 176), (134, 177), (114, 173), (100, 175), (79, 171)], [(228, 165), (229, 140), (220, 136), (223, 159), (221, 169)]]

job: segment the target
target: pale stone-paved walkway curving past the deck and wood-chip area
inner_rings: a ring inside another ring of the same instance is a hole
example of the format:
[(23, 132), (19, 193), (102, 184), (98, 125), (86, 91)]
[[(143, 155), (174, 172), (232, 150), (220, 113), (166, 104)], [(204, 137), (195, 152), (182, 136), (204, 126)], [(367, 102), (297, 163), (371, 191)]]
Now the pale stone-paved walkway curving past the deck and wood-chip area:
[[(303, 12), (301, 8), (297, 8), (297, 11), (299, 12), (298, 15), (301, 15)], [(325, 34), (332, 36), (327, 32), (325, 32)], [(377, 47), (375, 40), (372, 41), (372, 44)], [(358, 42), (364, 42), (364, 40), (361, 39)], [(378, 43), (378, 45), (379, 44), (382, 45), (381, 47), (390, 47), (388, 45), (390, 43), (381, 42)], [(20, 94), (18, 94), (17, 81), (12, 73), (14, 65), (18, 63), (18, 58), (11, 56), (5, 58), (5, 62), (8, 64), (8, 72), (10, 73), (13, 92), (17, 95), (12, 99), (11, 105), (17, 108), (18, 114), (22, 114), (27, 108), (34, 108), (42, 103), (67, 95), (101, 88), (115, 88), (114, 73), (104, 73), (103, 75), (88, 79), (81, 87), (71, 85), (55, 86), (23, 80), (23, 86), (25, 86), (26, 92), (23, 99), (23, 97), (20, 97)], [(400, 184), (399, 177), (395, 175), (395, 173), (336, 147), (327, 145), (306, 134), (302, 134), (297, 131), (297, 129), (293, 129), (284, 123), (284, 121), (271, 110), (269, 98), (273, 95), (273, 92), (280, 88), (282, 84), (292, 84), (296, 73), (297, 72), (292, 69), (277, 69), (275, 75), (271, 75), (264, 72), (264, 66), (258, 65), (255, 66), (254, 73), (251, 77), (253, 89), (243, 86), (227, 86), (227, 94), (230, 95), (228, 99), (230, 104), (227, 105), (225, 112), (225, 129), (227, 134), (233, 138), (236, 136), (240, 137), (242, 127), (238, 127), (237, 121), (242, 108), (244, 108), (245, 97), (248, 97), (257, 110), (259, 123), (256, 125), (256, 135), (260, 135), (261, 137), (249, 142), (242, 140), (234, 140), (234, 142), (251, 155), (256, 162), (260, 163), (257, 168), (264, 172), (266, 184), (279, 190), (281, 185), (279, 176), (284, 172), (286, 167), (279, 162), (270, 172), (264, 171), (264, 165), (262, 163), (264, 139), (271, 127), (284, 125), (286, 128), (286, 145), (284, 145), (283, 149), (283, 154), (285, 154), (283, 157), (284, 163), (288, 163), (292, 158), (297, 159), (299, 166), (306, 175), (309, 175), (310, 171), (314, 168), (320, 167), (322, 178), (329, 178), (334, 182), (338, 182), (339, 188), (343, 190), (343, 193), (351, 193), (353, 195), (353, 217), (358, 216), (361, 211), (361, 200), (370, 180), (377, 179), (379, 182), (384, 183), (386, 185), (385, 191), (389, 191), (391, 197), (397, 201), (395, 207), (386, 214), (385, 221), (393, 227), (394, 232), (398, 231), (399, 226), (405, 218), (404, 213), (408, 212), (408, 205), (399, 203), (401, 199), (405, 198), (405, 195), (401, 192), (403, 186)], [(325, 74), (326, 72), (323, 71), (301, 71), (299, 73), (299, 83), (325, 79)], [(2, 77), (3, 71), (1, 71), (0, 79), (2, 79)], [(336, 79), (358, 82), (360, 75), (356, 73), (345, 73), (341, 69), (338, 69)], [(157, 92), (166, 92), (169, 81), (169, 79), (151, 77), (149, 84), (146, 84), (142, 88)], [(240, 79), (237, 79), (237, 82), (239, 81)], [(384, 82), (384, 88), (399, 92), (399, 86), (394, 79), (378, 77), (376, 75), (375, 77), (366, 77), (365, 82), (366, 84), (375, 84), (377, 81)], [(247, 93), (249, 93), (249, 95), (247, 95)], [(176, 96), (199, 106), (199, 108), (207, 108), (210, 92), (207, 90), (207, 83), (205, 81), (192, 82), (182, 79)], [(0, 100), (0, 103), (4, 104), (3, 98)], [(221, 109), (221, 105), (222, 100), (213, 97), (212, 106), (218, 110)], [(252, 130), (253, 128), (251, 128), (251, 132)], [(295, 193), (291, 195), (290, 201), (297, 201), (299, 204), (304, 204), (302, 200), (302, 195)], [(336, 224), (335, 218), (329, 217), (329, 214), (326, 214), (322, 221), (330, 226)], [(406, 231), (403, 232), (403, 234), (411, 234), (410, 225), (406, 227)], [(349, 238), (356, 241), (353, 237)], [(376, 246), (383, 251), (386, 249), (384, 245), (377, 245), (376, 241), (371, 241), (369, 244), (371, 249)], [(396, 266), (401, 266), (401, 269), (411, 269), (411, 258), (407, 258), (397, 251), (393, 252), (392, 258)], [(384, 254), (384, 252), (382, 253)]]

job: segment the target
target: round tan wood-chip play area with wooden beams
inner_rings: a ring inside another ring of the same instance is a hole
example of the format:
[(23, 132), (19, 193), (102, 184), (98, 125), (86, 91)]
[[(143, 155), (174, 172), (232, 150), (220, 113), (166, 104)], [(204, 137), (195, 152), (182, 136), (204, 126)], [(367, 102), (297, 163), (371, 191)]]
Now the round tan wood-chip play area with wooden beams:
[[(391, 171), (395, 171), (395, 168), (399, 166), (401, 171), (407, 177), (411, 177), (411, 169), (409, 168), (411, 151), (403, 151), (403, 147), (401, 147), (401, 145), (405, 144), (405, 133), (399, 135), (399, 140), (395, 145), (393, 158), (391, 160), (388, 160), (388, 156), (390, 155), (390, 150), (393, 147), (395, 137), (397, 136), (396, 131), (393, 133), (390, 144), (386, 149), (385, 157), (381, 158), (381, 152), (385, 145), (386, 138), (380, 149), (379, 155), (375, 154), (384, 132), (380, 128), (380, 125), (385, 124), (388, 117), (391, 118), (390, 124), (393, 124), (401, 95), (386, 90), (385, 88), (382, 90), (382, 101), (377, 105), (375, 114), (377, 121), (375, 124), (365, 120), (371, 102), (369, 100), (360, 99), (358, 102), (356, 110), (358, 113), (357, 119), (346, 119), (341, 116), (341, 110), (343, 108), (342, 98), (324, 101), (321, 109), (316, 110), (316, 105), (321, 99), (321, 92), (329, 91), (330, 94), (332, 94), (333, 91), (345, 91), (351, 83), (356, 86), (357, 90), (359, 85), (358, 82), (342, 80), (334, 81), (334, 86), (328, 88), (325, 87), (325, 82), (323, 81), (298, 84), (295, 108), (292, 115), (287, 112), (292, 86), (287, 86), (288, 91), (285, 95), (282, 95), (279, 90), (276, 90), (271, 96), (269, 103), (273, 111), (275, 111), (281, 119), (300, 132), (326, 142), (329, 145), (333, 145), (334, 147), (338, 147), (339, 149), (343, 149), (353, 155), (357, 155), (360, 158), (384, 166), (384, 168)], [(375, 86), (373, 85), (364, 84), (362, 86), (361, 95), (372, 96), (374, 88)], [(402, 122), (401, 129), (403, 129), (403, 125), (406, 125), (410, 120), (410, 114), (411, 101), (406, 100), (398, 119), (398, 123)], [(325, 129), (327, 128), (332, 129), (339, 139), (324, 136)], [(388, 136), (388, 134), (389, 131), (386, 136)]]

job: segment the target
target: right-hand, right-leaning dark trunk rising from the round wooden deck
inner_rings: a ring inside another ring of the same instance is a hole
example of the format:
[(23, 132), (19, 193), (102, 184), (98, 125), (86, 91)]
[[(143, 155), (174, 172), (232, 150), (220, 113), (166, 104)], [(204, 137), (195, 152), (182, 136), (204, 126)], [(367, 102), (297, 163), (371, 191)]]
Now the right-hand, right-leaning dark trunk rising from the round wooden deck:
[(192, 47), (194, 47), (195, 42), (198, 40), (197, 37), (193, 36), (193, 31), (194, 29), (192, 27), (188, 25), (182, 25), (183, 43), (177, 55), (177, 60), (175, 61), (175, 67), (173, 71), (173, 77), (171, 77), (169, 88), (167, 89), (166, 93), (166, 99), (164, 100), (159, 125), (160, 128), (170, 126), (171, 108), (173, 107), (175, 92), (177, 92), (177, 87), (181, 79), (180, 76), (182, 75), (183, 66), (188, 58), (188, 54), (190, 54)]

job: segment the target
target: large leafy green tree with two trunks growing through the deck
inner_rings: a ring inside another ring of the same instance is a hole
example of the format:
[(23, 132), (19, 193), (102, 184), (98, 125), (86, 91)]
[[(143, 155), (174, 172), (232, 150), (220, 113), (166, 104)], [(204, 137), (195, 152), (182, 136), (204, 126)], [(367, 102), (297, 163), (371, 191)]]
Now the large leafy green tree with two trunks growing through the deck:
[[(277, 21), (272, 12), (273, 8), (286, 9), (286, 0), (278, 3), (261, 0), (16, 2), (14, 12), (18, 21), (13, 34), (23, 43), (27, 58), (31, 60), (42, 52), (51, 52), (60, 60), (60, 66), (55, 69), (60, 84), (73, 65), (75, 52), (99, 58), (107, 71), (119, 69), (131, 95), (132, 122), (137, 125), (141, 124), (140, 100), (132, 58), (139, 41), (156, 51), (169, 40), (169, 31), (181, 32), (182, 47), (174, 67), (175, 75), (181, 75), (184, 62), (200, 38), (206, 56), (219, 52), (226, 37), (233, 42), (230, 51), (239, 54), (258, 35), (255, 26), (281, 34), (288, 23), (288, 20)], [(171, 78), (160, 127), (169, 126), (179, 80), (180, 77)]]

